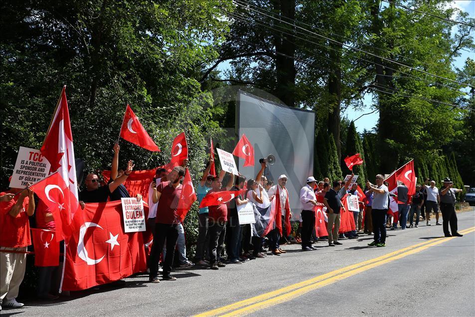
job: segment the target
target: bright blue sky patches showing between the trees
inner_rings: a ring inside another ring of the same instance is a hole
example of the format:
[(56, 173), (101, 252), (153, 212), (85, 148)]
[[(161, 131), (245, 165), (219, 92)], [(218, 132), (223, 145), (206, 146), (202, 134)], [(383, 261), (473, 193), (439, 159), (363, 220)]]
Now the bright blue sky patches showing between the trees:
[[(475, 0), (455, 0), (452, 2), (451, 6), (457, 7), (461, 9), (462, 11), (468, 12), (471, 17), (475, 17)], [(461, 51), (461, 52), (462, 52), (462, 55), (457, 57), (454, 63), (454, 66), (458, 68), (462, 68), (464, 66), (465, 61), (467, 60), (468, 57), (471, 57), (473, 59), (475, 58), (474, 53), (470, 53), (467, 51)], [(226, 61), (226, 62), (221, 63), (217, 68), (221, 71), (225, 71), (229, 69), (229, 67), (230, 67), (229, 61)], [(371, 107), (373, 103), (372, 98), (373, 98), (372, 94), (367, 93), (363, 98), (363, 107), (361, 109), (357, 109), (357, 110), (347, 109), (342, 115), (344, 117), (347, 117), (350, 120), (354, 120), (364, 113), (369, 113), (373, 111), (374, 109)], [(363, 130), (365, 129), (371, 130), (372, 128), (375, 127), (378, 121), (378, 117), (379, 117), (379, 113), (377, 111), (374, 113), (362, 116), (361, 118), (355, 121), (356, 130), (358, 130), (358, 132), (363, 132)]]

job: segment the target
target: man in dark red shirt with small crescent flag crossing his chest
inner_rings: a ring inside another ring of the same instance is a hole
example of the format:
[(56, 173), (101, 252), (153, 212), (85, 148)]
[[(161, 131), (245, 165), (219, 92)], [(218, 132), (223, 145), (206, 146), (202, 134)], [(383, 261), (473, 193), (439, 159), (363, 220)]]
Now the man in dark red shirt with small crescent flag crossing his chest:
[[(209, 193), (230, 190), (234, 183), (234, 175), (231, 174), (226, 187), (221, 188), (221, 180), (214, 177)], [(207, 195), (208, 195), (207, 194)], [(211, 270), (218, 270), (226, 265), (219, 261), (219, 255), (224, 248), (224, 237), (226, 235), (226, 221), (228, 220), (228, 207), (226, 204), (208, 206), (208, 232), (209, 232), (209, 267)]]

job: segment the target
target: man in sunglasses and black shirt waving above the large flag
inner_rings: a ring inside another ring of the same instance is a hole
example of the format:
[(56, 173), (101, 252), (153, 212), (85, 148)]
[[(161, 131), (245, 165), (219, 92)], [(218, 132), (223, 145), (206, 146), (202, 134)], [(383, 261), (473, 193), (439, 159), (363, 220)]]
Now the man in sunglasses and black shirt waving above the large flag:
[(119, 185), (124, 183), (134, 169), (134, 163), (129, 161), (124, 174), (117, 177), (112, 183), (106, 186), (99, 186), (99, 177), (97, 174), (90, 173), (86, 176), (86, 189), (79, 193), (79, 205), (84, 209), (84, 203), (104, 203)]

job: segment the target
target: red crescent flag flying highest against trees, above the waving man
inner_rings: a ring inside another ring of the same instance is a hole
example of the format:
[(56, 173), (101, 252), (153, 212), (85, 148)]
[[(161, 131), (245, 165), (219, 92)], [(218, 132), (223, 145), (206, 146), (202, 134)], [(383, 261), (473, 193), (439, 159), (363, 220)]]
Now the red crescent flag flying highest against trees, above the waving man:
[(157, 144), (145, 131), (144, 126), (140, 123), (139, 118), (137, 118), (129, 105), (127, 105), (124, 119), (122, 120), (121, 138), (149, 151), (160, 152)]

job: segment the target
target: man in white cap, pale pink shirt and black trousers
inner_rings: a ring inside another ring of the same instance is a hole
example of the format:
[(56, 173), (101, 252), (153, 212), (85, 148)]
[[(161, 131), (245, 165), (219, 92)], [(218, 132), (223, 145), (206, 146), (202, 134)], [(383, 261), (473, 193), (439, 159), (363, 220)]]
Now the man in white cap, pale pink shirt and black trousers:
[(302, 250), (317, 250), (312, 247), (312, 234), (315, 228), (314, 206), (317, 205), (314, 187), (317, 181), (313, 176), (307, 178), (307, 185), (300, 190), (300, 202), (302, 203)]

